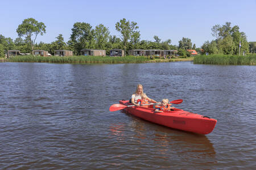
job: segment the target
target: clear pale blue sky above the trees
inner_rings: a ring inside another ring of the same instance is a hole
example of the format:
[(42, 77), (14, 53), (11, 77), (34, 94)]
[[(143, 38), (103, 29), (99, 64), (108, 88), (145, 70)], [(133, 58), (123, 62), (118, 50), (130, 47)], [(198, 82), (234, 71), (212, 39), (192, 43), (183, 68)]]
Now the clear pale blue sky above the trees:
[(120, 36), (115, 31), (115, 23), (120, 19), (138, 23), (141, 40), (172, 40), (178, 45), (182, 37), (191, 39), (196, 47), (207, 40), (213, 40), (211, 28), (216, 24), (231, 22), (245, 32), (248, 41), (256, 41), (256, 0), (214, 0), (214, 1), (1, 1), (0, 34), (15, 40), (16, 28), (24, 19), (34, 18), (46, 25), (46, 34), (38, 36), (37, 42), (50, 43), (60, 33), (68, 41), (76, 22), (93, 26), (104, 24), (111, 35)]

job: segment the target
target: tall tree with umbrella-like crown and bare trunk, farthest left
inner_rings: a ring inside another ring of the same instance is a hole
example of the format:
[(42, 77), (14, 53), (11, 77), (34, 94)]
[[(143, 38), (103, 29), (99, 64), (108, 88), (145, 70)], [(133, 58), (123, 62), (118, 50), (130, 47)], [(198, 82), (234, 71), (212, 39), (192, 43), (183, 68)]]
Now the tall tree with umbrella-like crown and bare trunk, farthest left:
[(31, 49), (34, 50), (36, 37), (46, 33), (46, 25), (42, 22), (38, 22), (34, 18), (24, 19), (22, 24), (16, 29), (19, 37), (24, 36), (27, 42), (31, 45)]

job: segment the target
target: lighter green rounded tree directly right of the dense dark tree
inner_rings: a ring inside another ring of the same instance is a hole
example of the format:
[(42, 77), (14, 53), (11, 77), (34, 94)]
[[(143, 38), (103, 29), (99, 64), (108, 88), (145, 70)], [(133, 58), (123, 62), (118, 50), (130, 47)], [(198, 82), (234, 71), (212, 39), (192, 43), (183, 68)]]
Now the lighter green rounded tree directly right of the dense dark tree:
[(96, 39), (96, 48), (105, 49), (106, 43), (109, 40), (109, 28), (106, 28), (103, 24), (97, 25), (95, 27), (95, 39)]

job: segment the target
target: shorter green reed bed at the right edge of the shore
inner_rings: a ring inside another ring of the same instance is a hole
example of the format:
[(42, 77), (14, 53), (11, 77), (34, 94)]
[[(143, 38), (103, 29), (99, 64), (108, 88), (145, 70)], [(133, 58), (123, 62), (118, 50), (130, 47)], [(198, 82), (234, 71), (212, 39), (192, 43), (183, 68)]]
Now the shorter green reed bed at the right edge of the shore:
[(196, 64), (213, 64), (213, 65), (256, 65), (256, 54), (246, 56), (230, 56), (230, 55), (201, 55), (193, 59)]

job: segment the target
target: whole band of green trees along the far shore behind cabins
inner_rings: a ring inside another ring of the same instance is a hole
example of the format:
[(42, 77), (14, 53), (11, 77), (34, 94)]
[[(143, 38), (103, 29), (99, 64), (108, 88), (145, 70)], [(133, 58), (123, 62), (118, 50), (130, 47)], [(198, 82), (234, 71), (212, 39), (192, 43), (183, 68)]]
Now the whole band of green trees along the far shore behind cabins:
[[(189, 56), (187, 49), (195, 49), (199, 53), (209, 54), (238, 54), (238, 46), (241, 42), (241, 51), (249, 52), (249, 43), (244, 32), (239, 31), (238, 25), (231, 27), (231, 23), (225, 25), (214, 25), (212, 35), (216, 38), (211, 42), (205, 41), (201, 48), (191, 42), (191, 39), (183, 37), (179, 45), (172, 45), (171, 39), (162, 41), (158, 36), (154, 36), (155, 41), (141, 40), (141, 33), (136, 22), (130, 22), (125, 18), (115, 24), (115, 29), (120, 36), (110, 35), (109, 28), (103, 24), (96, 25), (95, 28), (89, 23), (76, 22), (71, 29), (72, 33), (67, 42), (63, 35), (59, 34), (56, 40), (51, 43), (36, 43), (38, 36), (46, 34), (46, 25), (38, 22), (34, 18), (24, 19), (18, 25), (16, 32), (18, 37), (12, 40), (0, 34), (0, 56), (4, 56), (7, 50), (16, 49), (21, 53), (31, 53), (32, 50), (47, 50), (54, 54), (55, 50), (72, 50), (75, 55), (80, 55), (81, 49), (104, 49), (109, 54), (110, 49), (124, 49), (127, 53), (130, 49), (163, 49), (178, 51), (180, 56)], [(250, 48), (255, 48), (250, 46)], [(203, 49), (203, 50), (201, 50)]]

